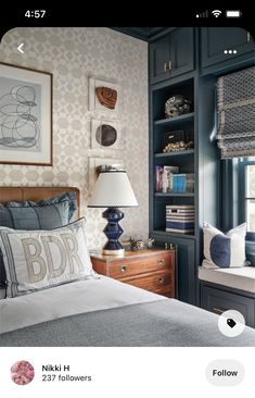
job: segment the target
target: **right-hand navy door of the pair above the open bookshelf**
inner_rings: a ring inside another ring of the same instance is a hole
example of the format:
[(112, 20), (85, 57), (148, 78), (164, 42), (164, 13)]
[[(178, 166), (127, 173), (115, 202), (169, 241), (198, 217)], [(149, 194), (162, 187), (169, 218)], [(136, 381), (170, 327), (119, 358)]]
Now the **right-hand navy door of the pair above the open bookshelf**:
[(176, 77), (194, 69), (194, 30), (182, 27), (170, 34), (170, 76)]

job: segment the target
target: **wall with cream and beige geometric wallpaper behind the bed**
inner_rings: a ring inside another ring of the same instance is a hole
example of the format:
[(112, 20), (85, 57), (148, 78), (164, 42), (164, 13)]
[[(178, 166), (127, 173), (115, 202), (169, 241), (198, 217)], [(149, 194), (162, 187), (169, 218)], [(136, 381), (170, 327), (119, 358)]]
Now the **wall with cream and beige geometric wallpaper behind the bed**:
[[(24, 42), (25, 53), (17, 50)], [(0, 61), (53, 73), (53, 166), (0, 164), (0, 185), (76, 186), (81, 214), (87, 219), (90, 248), (101, 247), (103, 209), (86, 207), (89, 195), (89, 157), (122, 159), (139, 208), (125, 209), (125, 236), (148, 238), (148, 47), (146, 43), (103, 27), (15, 28), (5, 34)], [(91, 149), (88, 110), (89, 76), (122, 86), (125, 149)]]

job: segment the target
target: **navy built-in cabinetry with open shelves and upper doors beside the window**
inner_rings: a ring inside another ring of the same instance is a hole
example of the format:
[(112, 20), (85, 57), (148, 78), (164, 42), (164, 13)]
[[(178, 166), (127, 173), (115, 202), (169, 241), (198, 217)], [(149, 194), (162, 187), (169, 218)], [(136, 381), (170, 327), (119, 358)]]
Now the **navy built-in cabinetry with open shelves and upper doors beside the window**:
[[(225, 50), (237, 49), (227, 54)], [(200, 304), (197, 266), (203, 259), (203, 223), (221, 227), (221, 161), (216, 145), (216, 83), (220, 75), (255, 64), (255, 45), (241, 28), (169, 28), (151, 40), (150, 51), (150, 235), (177, 247), (177, 290), (182, 301)], [(165, 117), (175, 95), (190, 99), (189, 113)], [(193, 134), (194, 147), (164, 153), (166, 133)], [(156, 192), (157, 165), (194, 173), (193, 192)], [(167, 204), (193, 204), (193, 234), (165, 231)]]

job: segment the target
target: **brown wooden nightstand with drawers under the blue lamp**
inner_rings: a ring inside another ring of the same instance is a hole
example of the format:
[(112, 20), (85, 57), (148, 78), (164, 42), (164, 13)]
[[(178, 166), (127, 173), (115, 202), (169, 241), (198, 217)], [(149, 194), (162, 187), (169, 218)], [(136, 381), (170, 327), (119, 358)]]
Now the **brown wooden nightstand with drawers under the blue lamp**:
[(125, 251), (125, 256), (91, 253), (94, 271), (129, 285), (175, 297), (175, 250)]

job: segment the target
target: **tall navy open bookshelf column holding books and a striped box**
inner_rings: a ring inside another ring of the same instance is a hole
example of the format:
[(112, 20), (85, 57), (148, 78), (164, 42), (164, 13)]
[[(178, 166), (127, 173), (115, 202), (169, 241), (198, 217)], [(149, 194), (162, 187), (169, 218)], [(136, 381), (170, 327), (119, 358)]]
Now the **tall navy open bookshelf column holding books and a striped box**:
[[(158, 244), (176, 245), (179, 297), (187, 302), (194, 302), (193, 290), (188, 285), (193, 284), (191, 273), (199, 233), (197, 115), (196, 112), (170, 119), (164, 115), (166, 100), (174, 95), (182, 95), (191, 101), (192, 110), (196, 110), (194, 82), (193, 77), (175, 84), (169, 79), (164, 86), (158, 84), (151, 90), (150, 234)], [(177, 214), (175, 209), (178, 209)]]

